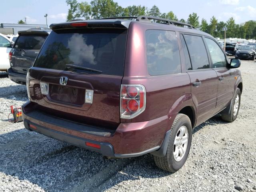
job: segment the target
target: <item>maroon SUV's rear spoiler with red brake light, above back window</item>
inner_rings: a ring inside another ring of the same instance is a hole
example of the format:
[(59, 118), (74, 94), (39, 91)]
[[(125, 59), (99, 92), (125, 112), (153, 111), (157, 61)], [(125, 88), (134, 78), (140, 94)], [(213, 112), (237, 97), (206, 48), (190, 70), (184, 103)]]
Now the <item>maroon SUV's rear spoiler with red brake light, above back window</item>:
[(51, 24), (52, 30), (70, 28), (128, 28), (131, 20), (77, 20)]

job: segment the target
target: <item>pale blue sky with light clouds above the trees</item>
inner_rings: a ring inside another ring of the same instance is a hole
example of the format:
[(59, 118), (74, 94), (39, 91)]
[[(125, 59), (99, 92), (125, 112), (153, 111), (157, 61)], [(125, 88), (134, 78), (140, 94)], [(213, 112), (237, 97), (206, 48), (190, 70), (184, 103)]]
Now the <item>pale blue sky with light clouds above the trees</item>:
[[(81, 2), (82, 0), (78, 0)], [(88, 0), (87, 2), (90, 2)], [(154, 4), (160, 12), (172, 11), (178, 19), (187, 20), (188, 15), (196, 12), (199, 20), (210, 22), (214, 15), (218, 21), (233, 17), (240, 24), (247, 20), (256, 20), (255, 0), (114, 0), (122, 7)], [(44, 14), (48, 14), (48, 25), (66, 21), (68, 6), (65, 0), (1, 0), (0, 23), (17, 23), (27, 18), (27, 24), (45, 24)]]

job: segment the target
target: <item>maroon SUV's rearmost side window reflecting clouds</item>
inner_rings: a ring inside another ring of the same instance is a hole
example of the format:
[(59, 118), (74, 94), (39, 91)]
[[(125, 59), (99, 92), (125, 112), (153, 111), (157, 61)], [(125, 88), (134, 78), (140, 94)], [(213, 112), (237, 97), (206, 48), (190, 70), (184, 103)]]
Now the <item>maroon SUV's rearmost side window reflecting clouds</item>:
[(181, 72), (180, 51), (174, 31), (147, 30), (146, 52), (150, 75)]

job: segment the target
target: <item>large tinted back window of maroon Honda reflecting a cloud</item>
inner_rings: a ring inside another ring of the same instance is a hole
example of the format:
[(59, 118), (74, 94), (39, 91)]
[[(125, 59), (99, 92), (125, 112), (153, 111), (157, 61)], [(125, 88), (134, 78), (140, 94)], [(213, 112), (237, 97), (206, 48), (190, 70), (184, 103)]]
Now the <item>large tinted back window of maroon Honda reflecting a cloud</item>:
[(101, 74), (122, 76), (127, 30), (68, 29), (52, 31), (35, 67), (94, 73), (67, 64), (91, 68)]

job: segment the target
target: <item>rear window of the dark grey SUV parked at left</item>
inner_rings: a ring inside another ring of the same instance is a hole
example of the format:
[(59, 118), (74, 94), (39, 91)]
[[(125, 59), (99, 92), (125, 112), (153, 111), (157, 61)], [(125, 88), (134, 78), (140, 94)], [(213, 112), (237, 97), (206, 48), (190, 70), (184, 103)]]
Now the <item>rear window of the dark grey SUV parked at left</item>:
[(46, 35), (21, 35), (16, 40), (14, 48), (25, 49), (25, 50), (40, 50)]

